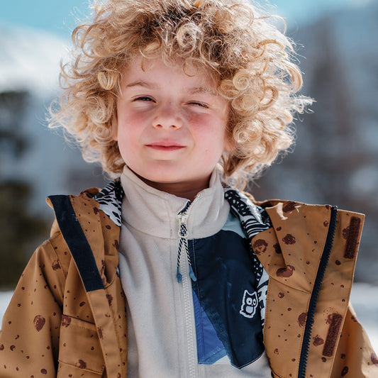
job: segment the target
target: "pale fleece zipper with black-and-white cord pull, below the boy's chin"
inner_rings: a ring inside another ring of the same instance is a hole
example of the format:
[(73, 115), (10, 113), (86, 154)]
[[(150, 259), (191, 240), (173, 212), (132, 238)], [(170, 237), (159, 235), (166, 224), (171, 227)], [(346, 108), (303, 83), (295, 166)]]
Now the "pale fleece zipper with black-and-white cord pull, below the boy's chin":
[[(188, 206), (189, 205), (189, 206)], [(196, 281), (196, 277), (193, 277), (193, 269), (191, 268), (191, 262), (188, 249), (188, 227), (187, 220), (189, 217), (190, 204), (177, 215), (179, 220), (179, 243), (185, 246), (185, 250), (180, 252), (182, 247), (179, 247), (179, 255), (177, 257), (177, 279), (179, 284), (182, 284), (182, 293), (184, 297), (184, 313), (185, 313), (185, 327), (187, 331), (187, 350), (188, 350), (188, 373), (189, 378), (196, 377), (196, 356), (195, 356), (195, 344), (194, 344), (194, 328), (193, 319), (191, 313), (193, 313), (193, 297), (191, 294), (191, 279)], [(182, 274), (179, 272), (179, 267), (182, 267)]]

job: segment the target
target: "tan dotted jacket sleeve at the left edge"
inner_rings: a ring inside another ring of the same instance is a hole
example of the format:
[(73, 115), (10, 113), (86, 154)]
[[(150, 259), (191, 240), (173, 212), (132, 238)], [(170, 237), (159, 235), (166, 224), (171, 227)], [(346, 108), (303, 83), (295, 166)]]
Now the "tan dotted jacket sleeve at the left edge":
[(0, 377), (56, 377), (64, 282), (48, 240), (28, 262), (4, 315)]

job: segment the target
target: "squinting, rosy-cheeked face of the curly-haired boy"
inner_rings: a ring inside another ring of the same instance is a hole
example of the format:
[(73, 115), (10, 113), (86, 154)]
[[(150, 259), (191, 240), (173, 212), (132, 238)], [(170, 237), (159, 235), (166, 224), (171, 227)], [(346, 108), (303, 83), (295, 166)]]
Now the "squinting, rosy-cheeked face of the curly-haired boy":
[[(228, 101), (204, 69), (135, 57), (123, 72), (116, 140), (126, 165), (150, 186), (193, 199), (226, 145)], [(193, 73), (193, 75), (192, 75)]]

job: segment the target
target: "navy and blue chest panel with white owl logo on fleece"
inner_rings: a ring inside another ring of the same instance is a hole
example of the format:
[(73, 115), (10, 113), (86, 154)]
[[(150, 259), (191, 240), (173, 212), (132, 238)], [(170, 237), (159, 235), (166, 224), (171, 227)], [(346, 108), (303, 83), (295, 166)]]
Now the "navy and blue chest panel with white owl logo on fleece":
[(257, 281), (248, 240), (230, 230), (189, 240), (199, 363), (224, 356), (238, 368), (264, 351)]

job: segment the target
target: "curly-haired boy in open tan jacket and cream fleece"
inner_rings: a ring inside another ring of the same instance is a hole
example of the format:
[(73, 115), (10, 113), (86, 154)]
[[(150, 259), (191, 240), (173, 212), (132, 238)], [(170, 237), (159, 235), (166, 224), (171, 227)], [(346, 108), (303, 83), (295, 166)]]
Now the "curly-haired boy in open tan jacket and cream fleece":
[(49, 198), (1, 377), (374, 377), (348, 308), (363, 216), (221, 182), (291, 145), (289, 40), (234, 0), (109, 0), (74, 37), (54, 119), (116, 180)]

